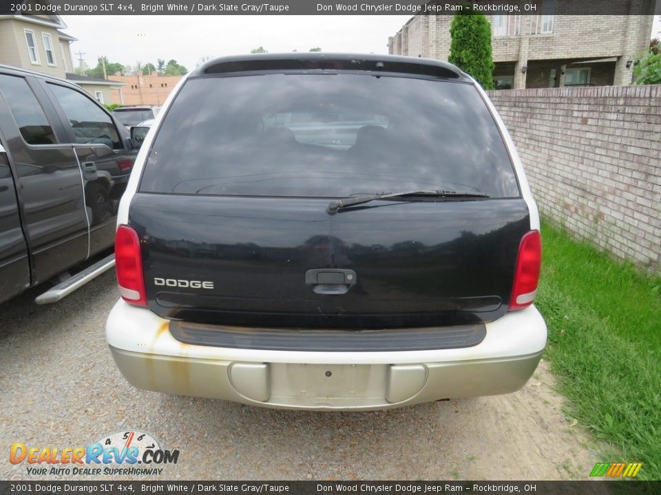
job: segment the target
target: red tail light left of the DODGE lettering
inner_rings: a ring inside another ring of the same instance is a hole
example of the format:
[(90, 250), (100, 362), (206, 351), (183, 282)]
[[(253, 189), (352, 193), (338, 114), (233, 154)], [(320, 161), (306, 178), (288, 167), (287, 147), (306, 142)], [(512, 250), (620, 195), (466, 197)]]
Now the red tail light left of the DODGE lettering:
[(127, 225), (120, 225), (115, 234), (115, 268), (123, 300), (132, 305), (147, 306), (140, 239)]

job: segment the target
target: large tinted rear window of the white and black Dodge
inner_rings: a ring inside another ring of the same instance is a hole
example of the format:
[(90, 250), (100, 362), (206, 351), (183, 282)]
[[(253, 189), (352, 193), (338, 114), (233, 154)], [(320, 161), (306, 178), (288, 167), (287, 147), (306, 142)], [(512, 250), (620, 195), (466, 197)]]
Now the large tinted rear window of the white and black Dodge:
[(503, 138), (470, 84), (357, 74), (191, 79), (140, 190), (345, 197), (401, 190), (519, 197)]

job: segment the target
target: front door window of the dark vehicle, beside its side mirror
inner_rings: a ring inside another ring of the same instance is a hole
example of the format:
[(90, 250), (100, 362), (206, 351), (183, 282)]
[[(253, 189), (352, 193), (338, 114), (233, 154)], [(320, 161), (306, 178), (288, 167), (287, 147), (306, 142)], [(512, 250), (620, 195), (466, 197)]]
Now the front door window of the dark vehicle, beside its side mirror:
[(90, 98), (74, 89), (50, 83), (49, 85), (71, 122), (76, 142), (106, 144), (115, 149), (123, 147), (112, 119)]

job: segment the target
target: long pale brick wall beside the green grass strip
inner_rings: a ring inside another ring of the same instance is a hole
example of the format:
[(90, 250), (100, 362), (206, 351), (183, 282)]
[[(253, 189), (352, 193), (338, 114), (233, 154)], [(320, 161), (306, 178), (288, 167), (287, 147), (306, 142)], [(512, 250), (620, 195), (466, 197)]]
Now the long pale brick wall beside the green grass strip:
[(661, 272), (661, 86), (490, 91), (540, 211)]

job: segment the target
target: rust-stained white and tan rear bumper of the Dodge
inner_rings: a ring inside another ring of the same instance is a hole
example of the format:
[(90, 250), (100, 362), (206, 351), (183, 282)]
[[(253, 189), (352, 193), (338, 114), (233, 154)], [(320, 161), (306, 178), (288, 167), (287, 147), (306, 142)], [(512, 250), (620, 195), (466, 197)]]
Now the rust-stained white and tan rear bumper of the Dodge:
[(127, 381), (149, 391), (255, 406), (370, 410), (517, 391), (546, 344), (534, 307), (488, 323), (473, 347), (426, 351), (314, 352), (185, 344), (165, 320), (119, 300), (106, 325)]

